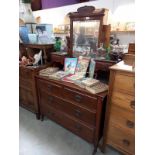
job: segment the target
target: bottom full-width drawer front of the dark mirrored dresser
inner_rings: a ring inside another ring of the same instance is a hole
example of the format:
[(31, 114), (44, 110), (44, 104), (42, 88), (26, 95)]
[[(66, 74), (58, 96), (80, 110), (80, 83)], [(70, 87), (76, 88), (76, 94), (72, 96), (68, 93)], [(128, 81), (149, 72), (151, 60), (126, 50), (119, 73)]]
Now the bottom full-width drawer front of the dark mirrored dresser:
[(73, 133), (79, 135), (89, 142), (93, 142), (94, 129), (85, 126), (84, 124), (78, 122), (77, 120), (71, 119), (69, 116), (64, 115), (60, 111), (55, 110), (49, 106), (43, 106), (41, 108), (41, 113), (46, 115), (48, 118), (54, 120), (55, 122), (61, 124), (65, 128), (71, 130)]

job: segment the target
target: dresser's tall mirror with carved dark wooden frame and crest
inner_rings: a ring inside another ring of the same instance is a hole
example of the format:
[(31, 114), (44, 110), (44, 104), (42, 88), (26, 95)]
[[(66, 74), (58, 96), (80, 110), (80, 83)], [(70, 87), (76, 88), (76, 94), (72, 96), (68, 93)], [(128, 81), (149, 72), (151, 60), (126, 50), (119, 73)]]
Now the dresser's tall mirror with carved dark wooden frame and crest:
[[(108, 9), (95, 9), (93, 6), (84, 6), (77, 12), (70, 12), (70, 52), (69, 55), (90, 56), (100, 44), (104, 44), (103, 25), (107, 24)], [(110, 35), (110, 33), (105, 33)], [(110, 36), (109, 36), (110, 37)], [(107, 43), (107, 42), (106, 42)]]

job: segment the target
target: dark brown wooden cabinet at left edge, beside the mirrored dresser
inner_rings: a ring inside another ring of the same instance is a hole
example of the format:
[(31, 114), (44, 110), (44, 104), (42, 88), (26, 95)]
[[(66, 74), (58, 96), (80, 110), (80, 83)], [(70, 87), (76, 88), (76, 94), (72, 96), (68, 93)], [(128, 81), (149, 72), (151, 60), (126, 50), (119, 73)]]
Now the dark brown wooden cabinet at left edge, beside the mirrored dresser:
[(45, 66), (37, 68), (19, 67), (19, 104), (20, 106), (36, 113), (37, 118), (39, 118), (39, 109), (35, 75), (44, 67)]

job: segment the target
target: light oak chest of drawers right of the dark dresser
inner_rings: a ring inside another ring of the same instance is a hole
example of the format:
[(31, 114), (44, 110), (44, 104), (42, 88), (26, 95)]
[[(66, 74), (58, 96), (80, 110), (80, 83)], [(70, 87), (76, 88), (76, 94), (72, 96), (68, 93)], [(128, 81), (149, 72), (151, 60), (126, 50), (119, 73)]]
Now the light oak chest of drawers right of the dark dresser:
[(121, 61), (110, 67), (109, 94), (102, 149), (109, 144), (135, 154), (135, 72)]

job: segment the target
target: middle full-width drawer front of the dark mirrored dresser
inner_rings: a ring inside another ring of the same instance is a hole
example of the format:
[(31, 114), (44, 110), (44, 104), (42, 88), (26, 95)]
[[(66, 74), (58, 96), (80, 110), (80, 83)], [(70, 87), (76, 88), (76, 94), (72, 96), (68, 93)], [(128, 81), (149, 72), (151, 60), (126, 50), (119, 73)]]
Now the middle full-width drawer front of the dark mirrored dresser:
[(40, 94), (41, 104), (48, 104), (62, 112), (69, 114), (71, 117), (75, 117), (81, 121), (88, 123), (89, 125), (95, 126), (96, 113), (83, 109), (72, 103), (65, 102), (58, 97), (48, 95), (47, 93), (41, 91)]

